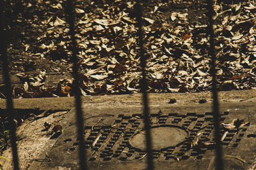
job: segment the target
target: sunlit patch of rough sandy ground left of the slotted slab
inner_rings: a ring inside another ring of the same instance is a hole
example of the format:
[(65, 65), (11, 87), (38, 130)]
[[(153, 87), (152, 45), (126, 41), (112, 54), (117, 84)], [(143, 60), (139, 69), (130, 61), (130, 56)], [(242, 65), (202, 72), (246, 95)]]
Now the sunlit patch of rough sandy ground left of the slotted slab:
[[(53, 111), (48, 117), (34, 121), (33, 119), (30, 121), (25, 120), (25, 122), (19, 126), (16, 134), (17, 146), (19, 148), (20, 169), (28, 169), (31, 162), (45, 149), (45, 145), (51, 141), (52, 127), (54, 127), (54, 125), (60, 125), (61, 120), (67, 117), (67, 113), (68, 111)], [(44, 126), (45, 123), (51, 125), (51, 129), (46, 129)], [(1, 155), (12, 160), (12, 149), (10, 144)], [(4, 162), (3, 169), (12, 168), (12, 162)]]

